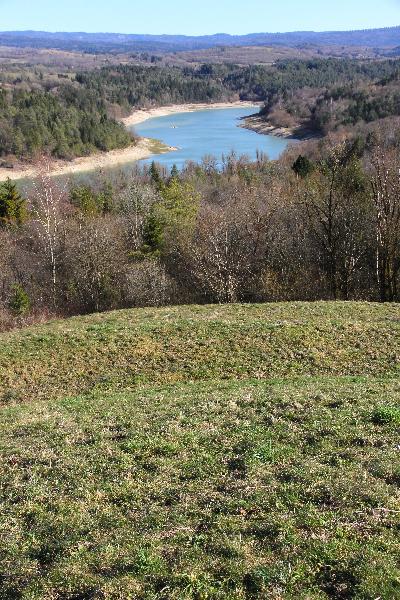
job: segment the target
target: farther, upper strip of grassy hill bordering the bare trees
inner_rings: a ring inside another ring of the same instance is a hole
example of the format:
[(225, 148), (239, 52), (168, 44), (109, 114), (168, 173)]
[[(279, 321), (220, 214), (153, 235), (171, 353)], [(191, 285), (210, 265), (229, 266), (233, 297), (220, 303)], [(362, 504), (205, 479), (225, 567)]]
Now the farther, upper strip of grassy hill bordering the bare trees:
[(399, 340), (398, 305), (126, 310), (0, 335), (0, 385), (31, 400), (94, 387), (399, 374)]

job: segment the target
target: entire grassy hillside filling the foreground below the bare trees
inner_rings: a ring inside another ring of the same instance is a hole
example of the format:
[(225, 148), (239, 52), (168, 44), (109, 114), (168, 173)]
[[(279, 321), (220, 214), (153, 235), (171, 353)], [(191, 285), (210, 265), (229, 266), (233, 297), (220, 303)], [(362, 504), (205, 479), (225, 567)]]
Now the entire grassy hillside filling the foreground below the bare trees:
[(400, 598), (400, 309), (0, 336), (0, 597)]

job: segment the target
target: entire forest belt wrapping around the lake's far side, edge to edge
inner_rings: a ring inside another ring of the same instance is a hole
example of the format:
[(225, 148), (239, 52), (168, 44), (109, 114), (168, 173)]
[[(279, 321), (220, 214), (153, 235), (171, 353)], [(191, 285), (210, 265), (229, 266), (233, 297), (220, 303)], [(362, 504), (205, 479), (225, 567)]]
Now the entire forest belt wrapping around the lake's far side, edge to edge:
[(133, 107), (264, 101), (274, 125), (326, 134), (400, 114), (399, 61), (282, 60), (274, 66), (117, 65), (53, 82), (3, 75), (0, 156), (72, 158), (132, 143), (114, 117)]

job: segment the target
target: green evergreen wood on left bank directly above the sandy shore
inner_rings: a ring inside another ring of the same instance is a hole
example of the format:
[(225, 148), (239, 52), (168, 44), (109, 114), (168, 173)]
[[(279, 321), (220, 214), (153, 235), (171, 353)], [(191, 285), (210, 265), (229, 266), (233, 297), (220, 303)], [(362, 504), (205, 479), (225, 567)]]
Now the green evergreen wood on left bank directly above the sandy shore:
[(130, 133), (107, 114), (90, 90), (62, 85), (45, 90), (0, 90), (0, 156), (55, 158), (123, 148)]

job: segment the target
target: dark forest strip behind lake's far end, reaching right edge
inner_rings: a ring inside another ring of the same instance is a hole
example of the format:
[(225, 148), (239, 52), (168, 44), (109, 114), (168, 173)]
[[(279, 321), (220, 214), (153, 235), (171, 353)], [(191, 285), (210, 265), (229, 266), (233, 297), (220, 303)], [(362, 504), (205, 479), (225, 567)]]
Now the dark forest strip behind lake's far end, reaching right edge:
[(197, 68), (119, 65), (77, 75), (86, 89), (125, 107), (207, 102), (238, 96), (272, 102), (301, 88), (371, 82), (399, 72), (399, 62), (350, 59), (282, 60), (273, 66), (212, 65)]

